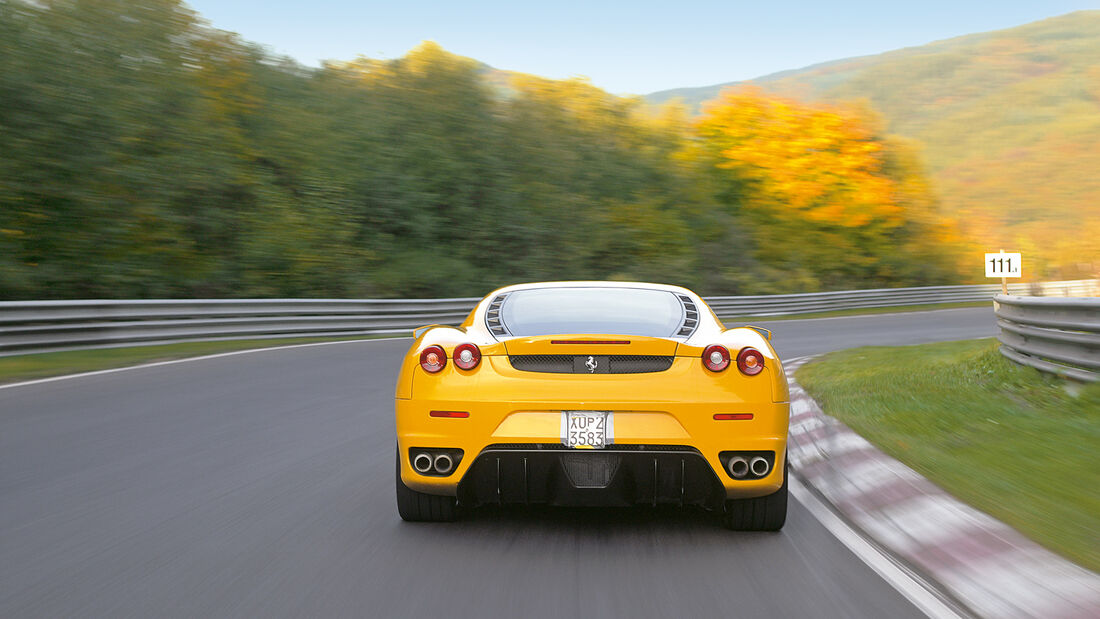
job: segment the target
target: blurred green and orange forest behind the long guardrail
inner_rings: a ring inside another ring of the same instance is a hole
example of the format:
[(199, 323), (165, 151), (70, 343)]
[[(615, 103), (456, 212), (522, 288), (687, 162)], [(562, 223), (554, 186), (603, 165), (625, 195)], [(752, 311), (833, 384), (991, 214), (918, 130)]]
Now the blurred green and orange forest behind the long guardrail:
[(502, 88), (430, 42), (309, 68), (175, 0), (0, 0), (0, 299), (969, 280), (976, 248), (883, 126), (752, 88), (701, 115)]

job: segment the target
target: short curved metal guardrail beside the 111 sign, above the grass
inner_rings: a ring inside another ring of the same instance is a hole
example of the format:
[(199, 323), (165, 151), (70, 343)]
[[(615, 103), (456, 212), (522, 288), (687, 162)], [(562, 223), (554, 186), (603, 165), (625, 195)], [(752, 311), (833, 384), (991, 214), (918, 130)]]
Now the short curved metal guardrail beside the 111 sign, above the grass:
[(1100, 380), (1100, 298), (997, 295), (1001, 354), (1078, 380)]

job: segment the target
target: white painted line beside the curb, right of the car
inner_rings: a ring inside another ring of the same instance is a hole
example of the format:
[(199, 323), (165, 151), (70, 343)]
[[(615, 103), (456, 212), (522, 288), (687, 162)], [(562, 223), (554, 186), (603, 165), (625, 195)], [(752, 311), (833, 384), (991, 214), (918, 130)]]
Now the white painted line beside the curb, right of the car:
[(794, 498), (802, 504), (821, 522), (833, 537), (840, 541), (870, 567), (876, 574), (882, 577), (890, 586), (900, 593), (905, 599), (911, 601), (922, 612), (936, 619), (958, 618), (957, 610), (952, 608), (938, 595), (931, 590), (924, 583), (919, 581), (912, 573), (905, 570), (891, 556), (882, 553), (873, 544), (868, 542), (857, 533), (847, 522), (840, 519), (829, 508), (822, 504), (821, 499), (813, 495), (809, 488), (793, 475), (788, 478), (788, 487)]

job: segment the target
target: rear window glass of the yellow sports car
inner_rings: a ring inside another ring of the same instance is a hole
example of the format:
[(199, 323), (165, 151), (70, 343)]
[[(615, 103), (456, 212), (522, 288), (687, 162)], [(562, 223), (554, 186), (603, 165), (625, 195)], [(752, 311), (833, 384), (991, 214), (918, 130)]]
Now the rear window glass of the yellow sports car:
[(501, 311), (517, 336), (608, 333), (670, 338), (683, 321), (680, 299), (646, 288), (534, 288), (508, 295)]

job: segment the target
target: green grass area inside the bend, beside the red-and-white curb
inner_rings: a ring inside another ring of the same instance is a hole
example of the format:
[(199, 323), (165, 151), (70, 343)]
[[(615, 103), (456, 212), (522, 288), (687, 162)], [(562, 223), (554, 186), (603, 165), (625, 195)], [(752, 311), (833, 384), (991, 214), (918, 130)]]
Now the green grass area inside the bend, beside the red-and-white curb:
[(1100, 571), (1100, 384), (1018, 366), (991, 340), (842, 351), (795, 376), (882, 451)]

